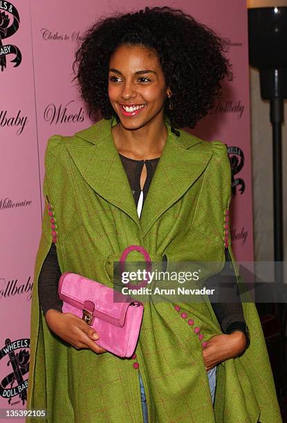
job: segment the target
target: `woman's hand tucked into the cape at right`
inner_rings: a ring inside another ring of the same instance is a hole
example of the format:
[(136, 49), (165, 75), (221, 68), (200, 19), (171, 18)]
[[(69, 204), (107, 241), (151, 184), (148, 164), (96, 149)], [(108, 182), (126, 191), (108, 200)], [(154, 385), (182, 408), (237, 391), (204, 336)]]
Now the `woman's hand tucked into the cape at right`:
[(215, 335), (203, 348), (204, 364), (207, 371), (216, 364), (237, 357), (246, 348), (246, 336), (239, 330), (230, 335)]

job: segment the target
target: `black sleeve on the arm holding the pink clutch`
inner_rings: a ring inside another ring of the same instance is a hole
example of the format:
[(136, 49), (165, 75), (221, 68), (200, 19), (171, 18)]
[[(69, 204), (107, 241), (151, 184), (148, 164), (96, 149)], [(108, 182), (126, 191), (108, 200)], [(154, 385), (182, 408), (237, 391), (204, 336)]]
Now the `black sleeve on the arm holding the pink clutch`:
[(62, 312), (63, 301), (59, 299), (57, 292), (60, 276), (61, 270), (57, 259), (57, 250), (55, 244), (52, 244), (42, 265), (38, 280), (39, 301), (44, 315), (50, 308)]

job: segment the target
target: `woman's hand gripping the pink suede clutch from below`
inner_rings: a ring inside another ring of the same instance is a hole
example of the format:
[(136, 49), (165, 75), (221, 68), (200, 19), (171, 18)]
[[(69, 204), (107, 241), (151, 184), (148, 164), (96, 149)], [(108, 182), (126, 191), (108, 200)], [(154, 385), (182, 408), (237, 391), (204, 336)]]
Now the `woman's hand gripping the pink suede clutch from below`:
[(107, 353), (107, 350), (95, 344), (100, 338), (98, 333), (80, 317), (71, 313), (61, 313), (53, 308), (46, 312), (45, 317), (50, 330), (77, 350), (89, 348), (96, 354)]

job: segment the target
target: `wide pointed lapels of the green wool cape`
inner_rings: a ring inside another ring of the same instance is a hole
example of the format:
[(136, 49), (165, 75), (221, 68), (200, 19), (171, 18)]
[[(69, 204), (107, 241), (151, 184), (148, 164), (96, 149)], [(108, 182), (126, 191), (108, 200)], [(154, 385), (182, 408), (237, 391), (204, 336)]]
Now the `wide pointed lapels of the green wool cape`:
[(145, 236), (165, 210), (201, 176), (212, 157), (211, 149), (193, 149), (203, 141), (181, 130), (180, 137), (176, 137), (167, 122), (167, 142), (139, 219), (129, 180), (113, 142), (111, 125), (111, 120), (101, 120), (75, 134), (89, 144), (70, 139), (66, 147), (93, 190), (129, 215)]

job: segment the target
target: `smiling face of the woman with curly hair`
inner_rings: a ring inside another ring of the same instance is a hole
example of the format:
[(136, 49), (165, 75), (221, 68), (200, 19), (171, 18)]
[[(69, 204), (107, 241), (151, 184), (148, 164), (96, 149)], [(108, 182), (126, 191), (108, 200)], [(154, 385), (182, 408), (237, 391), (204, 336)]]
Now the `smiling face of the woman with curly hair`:
[(109, 62), (109, 100), (125, 129), (163, 121), (167, 97), (158, 57), (142, 46), (123, 45)]

